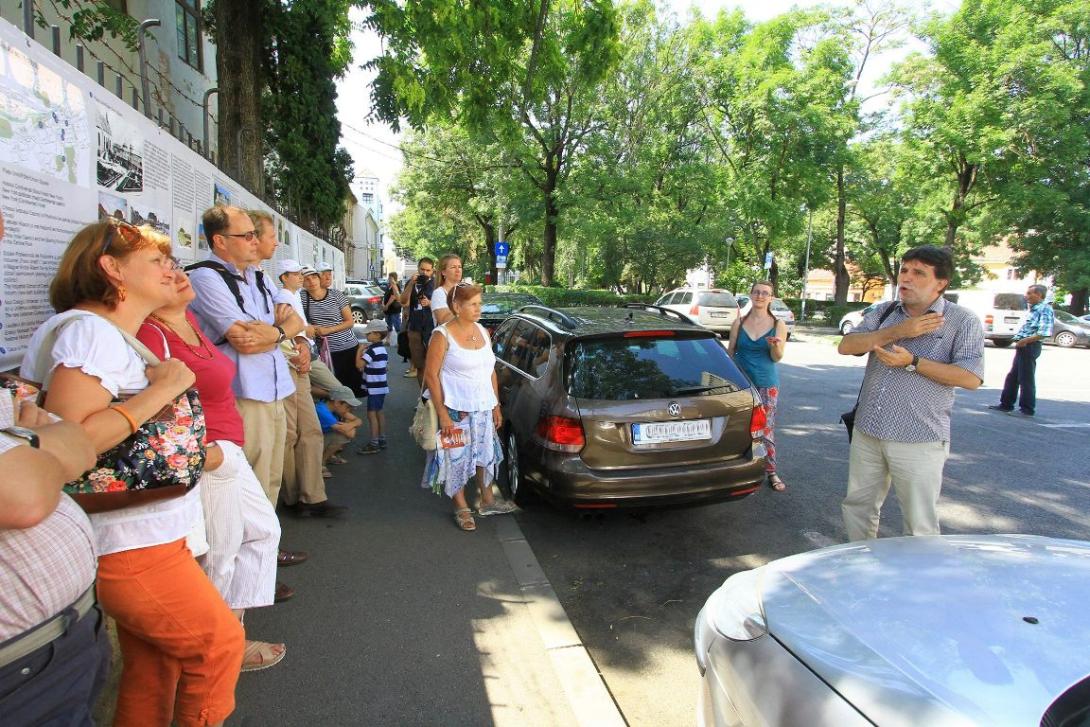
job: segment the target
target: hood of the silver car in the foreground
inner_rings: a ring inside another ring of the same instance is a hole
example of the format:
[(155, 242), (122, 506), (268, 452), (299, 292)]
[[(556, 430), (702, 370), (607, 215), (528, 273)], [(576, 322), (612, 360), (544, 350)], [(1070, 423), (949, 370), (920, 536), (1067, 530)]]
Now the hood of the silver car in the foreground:
[(1090, 544), (898, 537), (764, 569), (770, 633), (883, 727), (1037, 725), (1090, 674)]

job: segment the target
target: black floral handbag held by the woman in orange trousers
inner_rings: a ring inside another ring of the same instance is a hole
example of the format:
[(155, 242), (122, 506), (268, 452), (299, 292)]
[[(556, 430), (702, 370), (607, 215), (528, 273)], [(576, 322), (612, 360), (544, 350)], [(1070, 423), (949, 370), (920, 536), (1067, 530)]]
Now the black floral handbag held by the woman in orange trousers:
[[(149, 366), (160, 363), (146, 346), (128, 331), (118, 330)], [(45, 355), (51, 348), (44, 347)], [(169, 356), (166, 338), (164, 350)], [(47, 386), (48, 377), (43, 390)], [(86, 512), (146, 505), (180, 497), (195, 487), (204, 471), (204, 410), (197, 392), (190, 389), (123, 441), (99, 455), (95, 467), (64, 485), (64, 492)]]

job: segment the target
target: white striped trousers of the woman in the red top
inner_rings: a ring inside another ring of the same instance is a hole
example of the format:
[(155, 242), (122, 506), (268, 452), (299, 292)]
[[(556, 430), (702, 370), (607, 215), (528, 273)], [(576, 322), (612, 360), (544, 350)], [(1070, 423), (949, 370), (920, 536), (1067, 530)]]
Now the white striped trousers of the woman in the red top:
[(208, 552), (201, 567), (231, 608), (270, 606), (280, 521), (242, 448), (217, 441), (223, 463), (201, 475)]

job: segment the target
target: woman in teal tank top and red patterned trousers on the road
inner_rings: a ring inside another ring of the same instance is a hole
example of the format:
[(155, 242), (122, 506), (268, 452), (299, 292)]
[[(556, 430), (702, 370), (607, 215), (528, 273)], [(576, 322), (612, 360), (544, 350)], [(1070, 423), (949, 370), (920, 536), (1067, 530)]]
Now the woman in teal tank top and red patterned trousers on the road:
[(776, 403), (779, 400), (779, 374), (776, 362), (784, 358), (787, 344), (787, 325), (772, 315), (772, 283), (765, 280), (754, 282), (750, 289), (749, 313), (735, 320), (730, 327), (730, 347), (727, 352), (753, 386), (764, 402), (766, 425), (761, 439), (768, 451), (764, 470), (768, 485), (776, 492), (787, 489), (787, 485), (776, 474)]

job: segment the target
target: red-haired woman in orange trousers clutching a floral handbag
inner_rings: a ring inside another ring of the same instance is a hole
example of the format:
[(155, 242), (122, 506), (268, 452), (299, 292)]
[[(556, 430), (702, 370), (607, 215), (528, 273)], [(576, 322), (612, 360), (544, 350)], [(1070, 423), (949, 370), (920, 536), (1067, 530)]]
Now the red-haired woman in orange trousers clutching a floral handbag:
[(31, 339), (21, 371), (43, 381), (45, 409), (80, 423), (99, 453), (65, 489), (90, 512), (98, 599), (118, 625), (120, 727), (222, 723), (242, 664), (242, 626), (185, 544), (201, 521), (205, 465), (193, 373), (133, 338), (169, 302), (177, 267), (170, 241), (150, 229), (84, 227), (49, 289), (58, 313)]

